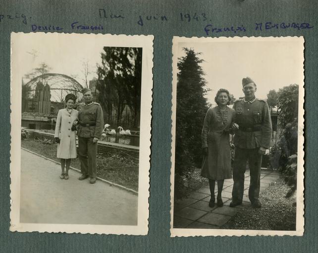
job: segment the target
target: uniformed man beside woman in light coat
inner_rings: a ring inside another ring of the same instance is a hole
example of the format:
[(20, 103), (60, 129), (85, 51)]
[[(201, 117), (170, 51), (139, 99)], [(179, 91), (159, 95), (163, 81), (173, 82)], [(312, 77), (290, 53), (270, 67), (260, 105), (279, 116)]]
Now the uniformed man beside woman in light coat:
[(92, 101), (92, 91), (83, 89), (84, 103), (78, 110), (78, 154), (81, 161), (82, 176), (79, 180), (91, 177), (90, 183), (96, 183), (97, 142), (102, 136), (104, 126), (103, 110), (100, 104)]

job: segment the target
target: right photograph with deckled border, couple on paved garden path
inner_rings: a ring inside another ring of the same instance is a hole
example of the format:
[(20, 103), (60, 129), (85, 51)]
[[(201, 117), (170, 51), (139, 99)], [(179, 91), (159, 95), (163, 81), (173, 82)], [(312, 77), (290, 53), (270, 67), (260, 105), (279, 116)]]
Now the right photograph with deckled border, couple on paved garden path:
[(302, 236), (304, 38), (173, 37), (171, 237)]

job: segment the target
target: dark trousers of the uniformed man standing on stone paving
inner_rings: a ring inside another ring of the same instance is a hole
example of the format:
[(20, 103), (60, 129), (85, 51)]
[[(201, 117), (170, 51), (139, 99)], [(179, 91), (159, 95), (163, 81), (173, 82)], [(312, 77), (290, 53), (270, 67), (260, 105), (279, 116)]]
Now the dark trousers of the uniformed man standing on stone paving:
[(259, 199), (261, 185), (261, 165), (262, 155), (259, 148), (246, 149), (235, 147), (234, 168), (233, 168), (233, 190), (232, 198), (234, 202), (242, 202), (244, 193), (244, 179), (247, 161), (250, 168), (250, 188), (249, 199), (253, 203)]

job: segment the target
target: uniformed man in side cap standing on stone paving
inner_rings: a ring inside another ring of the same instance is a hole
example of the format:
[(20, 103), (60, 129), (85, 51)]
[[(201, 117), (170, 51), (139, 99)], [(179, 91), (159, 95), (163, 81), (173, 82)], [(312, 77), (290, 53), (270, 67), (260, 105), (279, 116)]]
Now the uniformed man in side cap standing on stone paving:
[(246, 77), (242, 80), (245, 97), (234, 102), (236, 111), (234, 145), (234, 168), (231, 207), (242, 203), (244, 192), (244, 173), (247, 161), (250, 169), (249, 199), (252, 206), (260, 208), (260, 176), (262, 156), (269, 148), (272, 132), (268, 105), (265, 100), (255, 97), (255, 82)]

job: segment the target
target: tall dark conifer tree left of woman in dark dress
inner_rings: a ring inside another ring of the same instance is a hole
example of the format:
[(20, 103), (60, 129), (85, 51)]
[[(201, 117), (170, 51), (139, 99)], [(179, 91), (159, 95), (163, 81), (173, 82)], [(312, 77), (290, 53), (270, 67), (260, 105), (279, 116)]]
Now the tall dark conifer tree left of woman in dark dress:
[(179, 175), (192, 165), (201, 166), (201, 131), (208, 110), (203, 60), (193, 49), (184, 51), (186, 56), (177, 63), (175, 172)]

